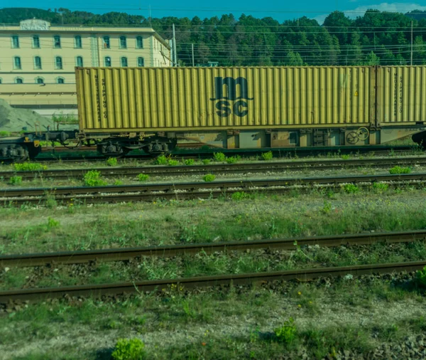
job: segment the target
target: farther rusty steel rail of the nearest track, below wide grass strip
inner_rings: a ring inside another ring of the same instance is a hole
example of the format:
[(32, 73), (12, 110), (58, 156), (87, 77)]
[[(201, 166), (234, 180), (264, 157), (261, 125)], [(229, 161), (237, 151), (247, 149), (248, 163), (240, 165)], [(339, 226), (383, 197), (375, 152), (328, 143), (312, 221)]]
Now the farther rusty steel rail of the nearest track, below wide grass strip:
[(233, 241), (225, 243), (193, 243), (186, 245), (149, 246), (144, 248), (111, 248), (103, 250), (63, 251), (58, 253), (29, 253), (0, 256), (0, 267), (31, 267), (48, 264), (78, 264), (94, 261), (122, 261), (140, 256), (170, 257), (204, 251), (242, 251), (256, 249), (294, 250), (297, 246), (370, 245), (373, 243), (408, 243), (424, 240), (426, 230), (392, 233), (360, 233), (307, 238)]

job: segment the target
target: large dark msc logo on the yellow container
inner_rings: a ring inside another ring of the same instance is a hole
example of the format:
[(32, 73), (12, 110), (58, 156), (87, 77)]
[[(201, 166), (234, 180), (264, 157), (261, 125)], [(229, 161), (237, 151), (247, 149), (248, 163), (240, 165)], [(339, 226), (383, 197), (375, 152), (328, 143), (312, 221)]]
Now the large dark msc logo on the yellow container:
[(249, 113), (247, 101), (253, 97), (249, 97), (246, 78), (214, 78), (214, 92), (215, 97), (210, 100), (216, 101), (216, 113), (220, 117), (228, 117), (233, 112), (244, 117)]

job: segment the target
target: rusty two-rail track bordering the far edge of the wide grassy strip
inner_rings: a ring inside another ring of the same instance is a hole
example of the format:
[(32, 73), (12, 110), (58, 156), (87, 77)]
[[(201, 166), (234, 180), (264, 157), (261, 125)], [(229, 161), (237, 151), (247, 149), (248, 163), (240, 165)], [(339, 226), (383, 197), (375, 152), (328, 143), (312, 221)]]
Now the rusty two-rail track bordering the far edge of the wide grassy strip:
[(25, 203), (43, 203), (46, 198), (69, 203), (116, 203), (126, 201), (155, 201), (158, 199), (217, 198), (244, 191), (244, 193), (283, 194), (293, 189), (306, 191), (338, 189), (342, 184), (371, 186), (374, 182), (387, 181), (391, 186), (420, 184), (426, 181), (422, 174), (384, 174), (339, 177), (308, 177), (299, 179), (263, 179), (243, 181), (185, 182), (121, 186), (57, 187), (38, 189), (0, 189), (0, 202), (5, 205), (21, 206)]

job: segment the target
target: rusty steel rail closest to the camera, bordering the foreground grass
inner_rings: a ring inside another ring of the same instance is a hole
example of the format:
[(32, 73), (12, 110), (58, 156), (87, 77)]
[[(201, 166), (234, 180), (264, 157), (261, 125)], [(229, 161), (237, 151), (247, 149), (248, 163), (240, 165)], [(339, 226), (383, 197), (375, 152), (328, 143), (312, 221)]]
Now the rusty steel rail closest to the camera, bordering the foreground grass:
[(308, 281), (318, 277), (338, 277), (344, 275), (372, 275), (391, 272), (409, 272), (426, 266), (426, 260), (410, 263), (386, 263), (373, 265), (342, 266), (336, 268), (313, 268), (275, 272), (258, 272), (249, 274), (215, 275), (187, 277), (167, 280), (148, 280), (136, 282), (117, 282), (102, 285), (77, 285), (66, 287), (48, 287), (26, 290), (7, 290), (0, 292), (0, 303), (17, 301), (35, 301), (61, 297), (100, 297), (104, 295), (121, 295), (140, 292), (152, 292), (177, 285), (184, 289), (197, 287), (214, 287), (217, 285), (249, 285), (275, 280)]

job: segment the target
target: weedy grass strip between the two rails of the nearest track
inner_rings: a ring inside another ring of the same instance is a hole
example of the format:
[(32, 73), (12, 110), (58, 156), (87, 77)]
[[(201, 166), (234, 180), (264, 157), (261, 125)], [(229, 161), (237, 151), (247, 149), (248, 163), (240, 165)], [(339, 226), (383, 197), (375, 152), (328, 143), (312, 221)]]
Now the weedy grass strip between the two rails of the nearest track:
[(295, 251), (198, 253), (173, 258), (143, 257), (130, 262), (11, 268), (0, 273), (0, 290), (28, 287), (133, 282), (203, 275), (270, 272), (424, 260), (426, 241), (354, 247), (309, 247)]

